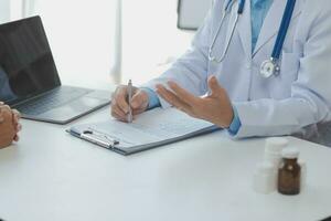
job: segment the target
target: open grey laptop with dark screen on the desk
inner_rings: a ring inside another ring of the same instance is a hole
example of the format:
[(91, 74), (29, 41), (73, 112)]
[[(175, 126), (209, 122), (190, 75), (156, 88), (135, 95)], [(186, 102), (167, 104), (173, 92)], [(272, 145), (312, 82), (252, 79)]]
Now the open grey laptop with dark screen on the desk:
[(63, 86), (40, 17), (0, 25), (0, 101), (26, 119), (67, 124), (110, 103), (110, 92)]

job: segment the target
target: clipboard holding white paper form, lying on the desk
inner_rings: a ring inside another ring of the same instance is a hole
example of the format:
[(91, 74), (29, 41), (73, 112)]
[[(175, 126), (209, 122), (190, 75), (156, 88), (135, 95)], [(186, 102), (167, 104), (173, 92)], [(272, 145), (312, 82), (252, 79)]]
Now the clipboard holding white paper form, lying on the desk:
[(127, 156), (218, 129), (211, 123), (192, 118), (174, 108), (156, 108), (141, 114), (132, 124), (110, 119), (73, 126), (66, 131), (85, 141)]

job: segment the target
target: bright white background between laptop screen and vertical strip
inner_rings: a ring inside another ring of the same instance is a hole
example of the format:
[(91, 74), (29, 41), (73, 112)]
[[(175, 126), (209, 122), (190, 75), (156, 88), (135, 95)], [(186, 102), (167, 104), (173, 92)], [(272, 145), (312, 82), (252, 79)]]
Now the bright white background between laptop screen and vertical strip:
[[(33, 0), (63, 84), (105, 88), (114, 62), (115, 0)], [(86, 80), (94, 75), (95, 81)]]

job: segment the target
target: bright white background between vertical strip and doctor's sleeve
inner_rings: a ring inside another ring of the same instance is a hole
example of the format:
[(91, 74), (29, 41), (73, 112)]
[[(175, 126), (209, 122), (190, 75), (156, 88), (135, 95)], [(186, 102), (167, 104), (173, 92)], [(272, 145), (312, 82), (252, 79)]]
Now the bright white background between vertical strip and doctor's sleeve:
[(193, 32), (177, 29), (178, 0), (124, 0), (122, 82), (159, 75), (160, 64), (181, 55)]

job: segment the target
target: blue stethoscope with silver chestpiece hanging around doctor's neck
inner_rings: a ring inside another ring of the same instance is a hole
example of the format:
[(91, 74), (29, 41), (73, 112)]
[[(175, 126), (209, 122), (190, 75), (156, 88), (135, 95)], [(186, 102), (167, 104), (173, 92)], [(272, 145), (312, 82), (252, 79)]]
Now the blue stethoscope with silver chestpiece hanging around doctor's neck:
[[(224, 12), (223, 12), (223, 17), (221, 19), (218, 29), (216, 31), (216, 34), (213, 38), (212, 44), (210, 46), (210, 51), (209, 51), (209, 60), (211, 62), (216, 62), (216, 63), (222, 63), (227, 54), (231, 41), (233, 39), (237, 22), (239, 17), (243, 14), (244, 12), (244, 7), (245, 7), (245, 0), (238, 0), (238, 10), (237, 10), (237, 14), (235, 18), (235, 22), (234, 25), (231, 29), (231, 35), (228, 38), (228, 41), (225, 44), (225, 49), (221, 55), (221, 57), (216, 57), (213, 54), (214, 51), (214, 46), (216, 43), (216, 39), (220, 35), (221, 29), (223, 27), (224, 20), (226, 18), (226, 15), (231, 12), (231, 9), (233, 8), (233, 4), (236, 0), (228, 0), (227, 3), (224, 7)], [(287, 0), (287, 4), (285, 8), (285, 12), (282, 14), (282, 20), (280, 23), (280, 28), (279, 28), (279, 32), (276, 39), (276, 43), (274, 45), (274, 50), (273, 50), (273, 54), (269, 60), (266, 60), (261, 63), (260, 65), (260, 70), (259, 73), (263, 77), (268, 78), (273, 75), (278, 75), (280, 72), (280, 65), (279, 65), (279, 57), (280, 57), (280, 53), (281, 53), (281, 49), (285, 42), (285, 38), (292, 18), (292, 13), (295, 10), (295, 6), (296, 6), (296, 0)]]

